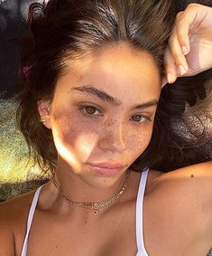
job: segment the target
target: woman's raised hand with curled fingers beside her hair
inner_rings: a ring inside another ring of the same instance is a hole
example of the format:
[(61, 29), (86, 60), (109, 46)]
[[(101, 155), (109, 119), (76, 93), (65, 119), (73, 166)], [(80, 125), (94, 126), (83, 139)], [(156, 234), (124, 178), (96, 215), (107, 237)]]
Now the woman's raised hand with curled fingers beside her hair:
[(164, 68), (166, 77), (162, 85), (212, 68), (211, 7), (190, 4), (177, 14), (165, 52)]

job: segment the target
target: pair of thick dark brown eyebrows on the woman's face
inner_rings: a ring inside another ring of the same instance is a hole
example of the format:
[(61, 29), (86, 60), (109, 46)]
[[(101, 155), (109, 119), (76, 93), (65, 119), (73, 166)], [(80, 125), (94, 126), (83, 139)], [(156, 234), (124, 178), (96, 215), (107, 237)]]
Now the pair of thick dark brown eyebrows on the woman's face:
[[(71, 91), (79, 91), (79, 92), (82, 92), (82, 93), (87, 93), (91, 96), (96, 96), (98, 99), (102, 100), (102, 101), (106, 101), (112, 105), (115, 105), (115, 106), (119, 106), (122, 104), (122, 102), (116, 98), (114, 98), (113, 96), (109, 95), (106, 93), (106, 91), (104, 90), (99, 90), (95, 87), (92, 87), (92, 86), (80, 86), (80, 87), (74, 87), (70, 90)], [(134, 109), (147, 109), (147, 108), (150, 108), (152, 106), (157, 106), (159, 103), (158, 100), (150, 100), (148, 102), (144, 102), (142, 104), (138, 104), (138, 105), (135, 105), (132, 110)]]

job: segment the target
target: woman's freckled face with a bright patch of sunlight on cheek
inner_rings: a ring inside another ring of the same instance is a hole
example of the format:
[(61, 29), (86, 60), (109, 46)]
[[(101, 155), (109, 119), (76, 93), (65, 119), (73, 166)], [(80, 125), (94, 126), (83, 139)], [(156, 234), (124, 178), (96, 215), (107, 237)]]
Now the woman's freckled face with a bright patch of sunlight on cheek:
[(89, 185), (106, 180), (112, 185), (151, 140), (161, 92), (159, 70), (148, 53), (126, 44), (67, 65), (50, 108), (40, 106), (52, 129), (59, 166)]

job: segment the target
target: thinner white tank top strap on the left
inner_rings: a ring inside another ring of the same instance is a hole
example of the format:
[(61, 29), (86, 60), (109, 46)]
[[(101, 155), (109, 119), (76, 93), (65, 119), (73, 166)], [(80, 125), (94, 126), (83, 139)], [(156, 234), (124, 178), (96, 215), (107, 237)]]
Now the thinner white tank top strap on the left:
[(26, 253), (27, 253), (28, 237), (29, 237), (29, 233), (30, 233), (30, 229), (31, 229), (31, 225), (32, 225), (33, 215), (34, 215), (37, 203), (38, 203), (38, 198), (41, 193), (41, 187), (42, 187), (42, 185), (37, 188), (37, 190), (33, 196), (32, 204), (30, 207), (30, 212), (28, 215), (27, 228), (26, 228), (25, 238), (24, 238), (24, 242), (23, 242), (23, 250), (22, 250), (21, 256), (26, 256)]

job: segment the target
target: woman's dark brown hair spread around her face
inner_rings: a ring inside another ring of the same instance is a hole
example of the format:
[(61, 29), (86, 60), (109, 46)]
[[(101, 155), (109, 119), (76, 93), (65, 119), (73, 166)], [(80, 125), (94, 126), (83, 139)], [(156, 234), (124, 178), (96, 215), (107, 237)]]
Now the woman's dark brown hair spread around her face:
[[(43, 171), (55, 167), (57, 150), (51, 130), (40, 122), (37, 102), (52, 99), (66, 61), (106, 44), (124, 42), (150, 53), (162, 73), (175, 15), (171, 0), (50, 0), (47, 5), (30, 6), (30, 35), (20, 69), (17, 120), (31, 155)], [(27, 73), (23, 72), (26, 66), (30, 67)], [(161, 91), (152, 141), (132, 165), (134, 170), (145, 166), (168, 170), (186, 165), (187, 158), (197, 160), (194, 151), (191, 156), (185, 141), (171, 128), (171, 119), (183, 115), (185, 102), (197, 98), (196, 93), (190, 96), (189, 87), (187, 92), (179, 91), (173, 86)]]

